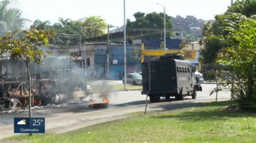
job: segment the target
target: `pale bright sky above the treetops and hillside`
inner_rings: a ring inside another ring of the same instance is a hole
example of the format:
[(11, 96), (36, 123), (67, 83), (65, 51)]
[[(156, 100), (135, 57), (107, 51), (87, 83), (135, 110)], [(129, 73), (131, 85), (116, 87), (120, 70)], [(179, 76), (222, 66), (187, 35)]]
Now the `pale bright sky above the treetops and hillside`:
[[(126, 18), (134, 20), (133, 14), (163, 12), (169, 16), (195, 16), (210, 20), (215, 15), (226, 11), (231, 0), (126, 0)], [(31, 20), (49, 20), (51, 25), (58, 18), (78, 20), (90, 16), (102, 16), (107, 24), (122, 26), (124, 24), (123, 0), (12, 0), (10, 5), (22, 10), (22, 17)], [(27, 23), (29, 27), (32, 22)]]

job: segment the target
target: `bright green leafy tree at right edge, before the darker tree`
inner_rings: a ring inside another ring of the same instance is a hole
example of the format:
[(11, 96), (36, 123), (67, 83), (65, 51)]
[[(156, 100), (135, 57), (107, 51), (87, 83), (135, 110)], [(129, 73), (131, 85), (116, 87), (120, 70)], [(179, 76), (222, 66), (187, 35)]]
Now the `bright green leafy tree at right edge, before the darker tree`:
[[(231, 46), (224, 47), (218, 53), (217, 64), (220, 72), (231, 76), (237, 84), (233, 88), (233, 97), (243, 106), (256, 108), (256, 20), (245, 18), (238, 25), (230, 24), (226, 40)], [(225, 71), (224, 71), (225, 70)], [(228, 73), (227, 73), (228, 71)], [(227, 80), (228, 81), (228, 80)], [(232, 81), (228, 81), (227, 85)]]

